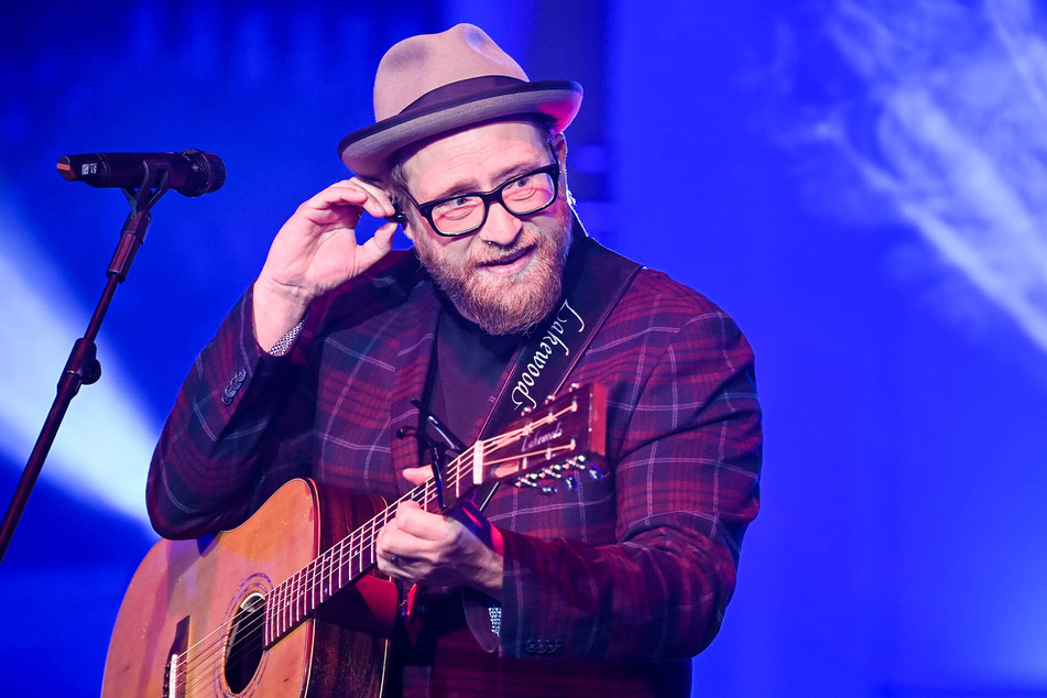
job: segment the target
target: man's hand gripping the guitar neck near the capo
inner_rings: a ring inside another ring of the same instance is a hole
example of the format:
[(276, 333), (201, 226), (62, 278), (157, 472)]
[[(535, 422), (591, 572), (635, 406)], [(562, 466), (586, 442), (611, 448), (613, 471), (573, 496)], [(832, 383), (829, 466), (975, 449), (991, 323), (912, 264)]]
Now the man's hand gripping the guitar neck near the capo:
[[(408, 468), (404, 476), (422, 484), (432, 472)], [(375, 544), (378, 569), (384, 575), (427, 587), (471, 587), (502, 598), (502, 536), (475, 506), (460, 516), (443, 516), (416, 502), (401, 502)]]

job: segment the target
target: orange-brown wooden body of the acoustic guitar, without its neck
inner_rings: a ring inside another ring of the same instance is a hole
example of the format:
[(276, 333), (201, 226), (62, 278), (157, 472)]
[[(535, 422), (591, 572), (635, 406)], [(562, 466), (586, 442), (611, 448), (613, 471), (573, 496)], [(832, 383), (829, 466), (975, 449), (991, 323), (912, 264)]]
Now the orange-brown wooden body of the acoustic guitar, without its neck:
[(380, 696), (391, 581), (364, 575), (268, 648), (261, 623), (276, 585), (383, 505), (293, 480), (232, 531), (157, 542), (117, 615), (103, 698)]

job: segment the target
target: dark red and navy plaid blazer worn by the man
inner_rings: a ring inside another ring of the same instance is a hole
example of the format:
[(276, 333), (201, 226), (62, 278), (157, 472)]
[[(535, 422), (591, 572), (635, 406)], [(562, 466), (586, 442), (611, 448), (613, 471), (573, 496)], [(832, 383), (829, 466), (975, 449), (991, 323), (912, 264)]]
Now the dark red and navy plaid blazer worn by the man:
[[(156, 447), (156, 531), (233, 527), (295, 477), (389, 498), (411, 489), (400, 471), (417, 447), (394, 435), (417, 424), (410, 400), (423, 394), (438, 306), (413, 253), (393, 252), (315, 304), (274, 358), (254, 340), (249, 291)], [(500, 636), (482, 599), (466, 592), (462, 614), (456, 593), (459, 620), (407, 662), (405, 694), (689, 695), (688, 657), (720, 626), (759, 508), (752, 351), (720, 308), (644, 270), (570, 381), (608, 389), (611, 475), (552, 498), (500, 488), (484, 510), (505, 543)]]

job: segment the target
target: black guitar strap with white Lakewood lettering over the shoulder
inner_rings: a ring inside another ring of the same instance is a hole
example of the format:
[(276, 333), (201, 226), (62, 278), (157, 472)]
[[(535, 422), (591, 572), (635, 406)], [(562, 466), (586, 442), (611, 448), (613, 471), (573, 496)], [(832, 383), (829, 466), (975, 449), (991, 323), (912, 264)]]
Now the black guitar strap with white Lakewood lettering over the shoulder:
[[(491, 413), (480, 428), (489, 438), (527, 408), (557, 394), (611, 310), (643, 266), (607, 249), (575, 218), (575, 244), (564, 270), (563, 301), (516, 355)], [(482, 510), (498, 482), (481, 486), (473, 498)]]

